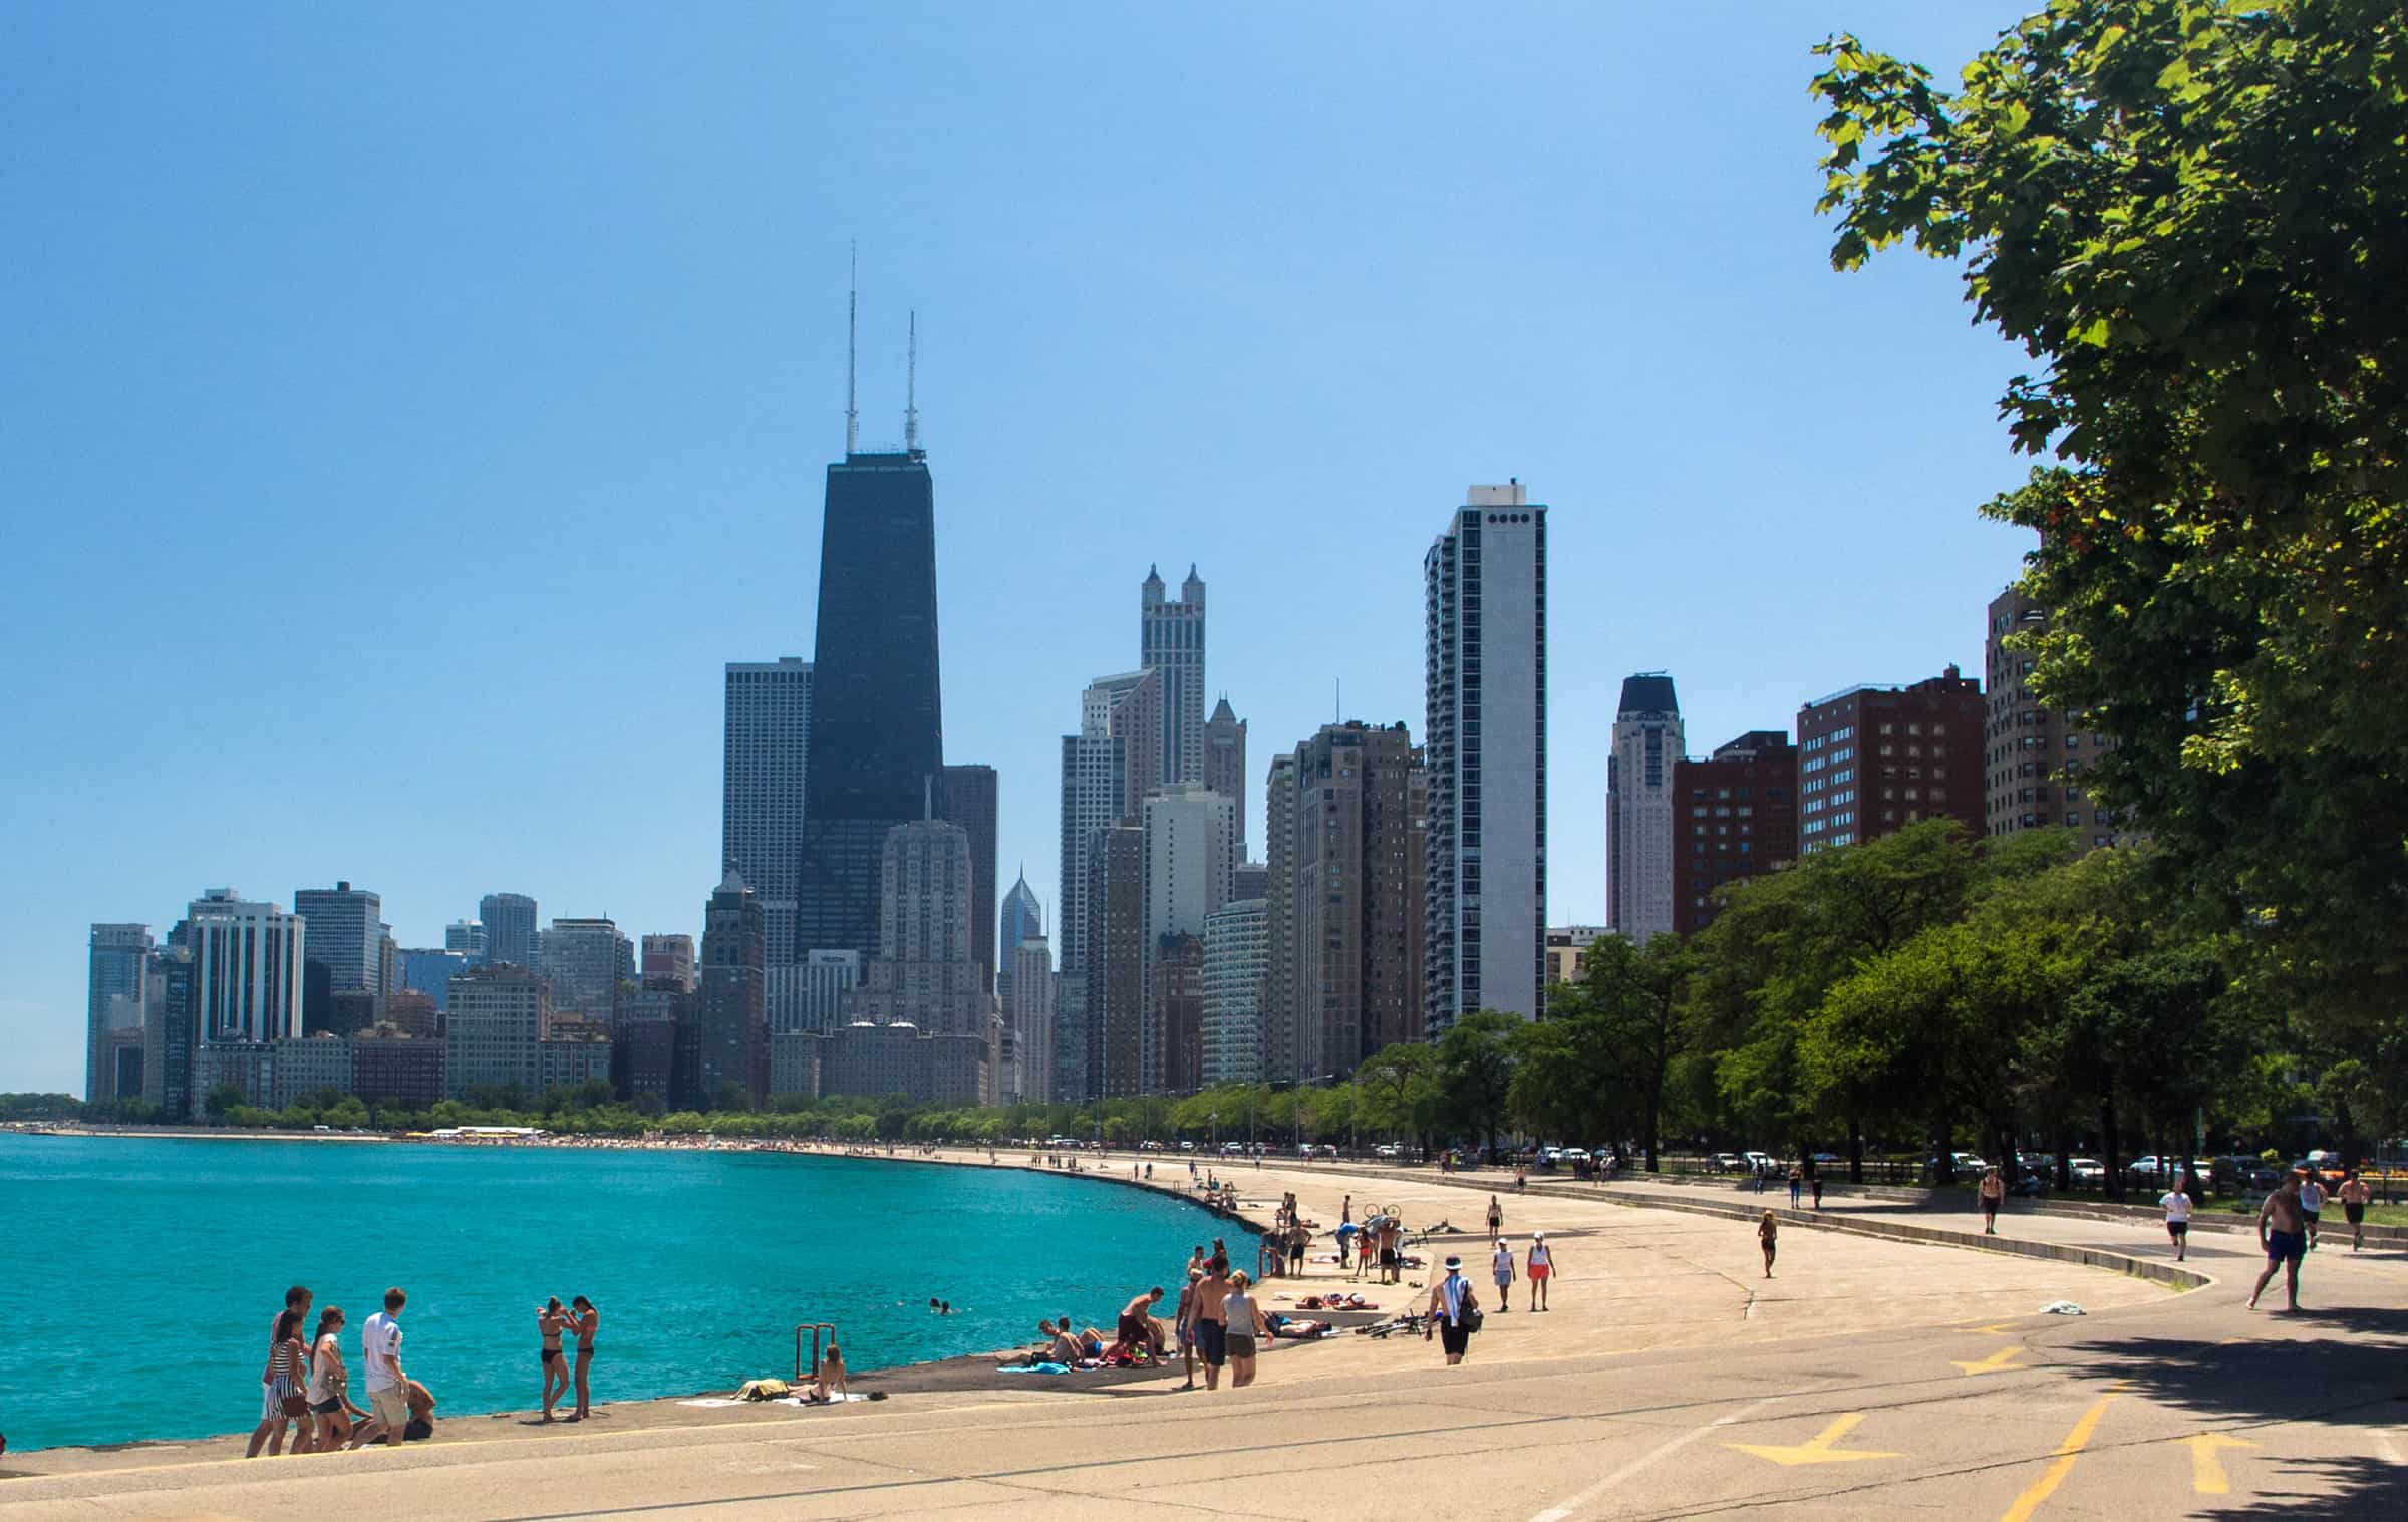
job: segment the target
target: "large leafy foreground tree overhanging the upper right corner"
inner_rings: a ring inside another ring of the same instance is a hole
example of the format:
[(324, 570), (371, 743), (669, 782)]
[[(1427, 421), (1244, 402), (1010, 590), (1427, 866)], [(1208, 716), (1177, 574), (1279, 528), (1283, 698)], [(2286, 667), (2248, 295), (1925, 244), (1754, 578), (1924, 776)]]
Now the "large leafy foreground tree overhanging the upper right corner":
[(2054, 0), (1958, 89), (1820, 51), (1832, 262), (1963, 260), (2040, 361), (2032, 689), (2249, 975), (2329, 1038), (2408, 1007), (2408, 12)]

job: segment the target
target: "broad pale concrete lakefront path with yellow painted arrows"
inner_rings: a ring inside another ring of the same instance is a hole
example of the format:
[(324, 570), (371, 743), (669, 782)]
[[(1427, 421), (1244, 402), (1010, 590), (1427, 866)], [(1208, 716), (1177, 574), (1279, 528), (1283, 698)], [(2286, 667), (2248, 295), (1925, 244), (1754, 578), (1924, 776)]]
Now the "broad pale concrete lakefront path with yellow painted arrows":
[[(1112, 1161), (1127, 1185), (1129, 1158)], [(1151, 1161), (1185, 1182), (1182, 1161)], [(1098, 1178), (1112, 1178), (1112, 1163)], [(2261, 1260), (2223, 1233), (2194, 1245), (2191, 1267), (2211, 1284), (2186, 1293), (1804, 1223), (1784, 1223), (1767, 1281), (1741, 1219), (1556, 1187), (1517, 1197), (1488, 1175), (1315, 1166), (1233, 1178), (1257, 1219), (1296, 1190), (1324, 1231), (1346, 1192), (1356, 1219), (1394, 1204), (1413, 1228), (1469, 1226), (1428, 1247), (1433, 1260), (1459, 1252), (1491, 1305), (1466, 1363), (1447, 1370), (1435, 1344), (1401, 1334), (1336, 1337), (1279, 1346), (1250, 1390), (1182, 1392), (1178, 1378), (1156, 1378), (1086, 1392), (1050, 1380), (840, 1409), (621, 1404), (573, 1430), (462, 1418), (400, 1452), (258, 1462), (222, 1459), (222, 1443), (51, 1450), (0, 1459), (36, 1471), (0, 1481), (0, 1522), (364, 1510), (1317, 1520), (1365, 1498), (1507, 1522), (1936, 1508), (1967, 1522), (2408, 1515), (2408, 1402), (2394, 1399), (2408, 1387), (2408, 1267), (2391, 1252), (2319, 1247), (2302, 1272), (2309, 1310), (2292, 1317), (2242, 1308)], [(1534, 1228), (1556, 1247), (1546, 1315), (1527, 1310), (1524, 1284), (1510, 1312), (1493, 1312), (1481, 1231), (1491, 1187), (1517, 1255)], [(1929, 1211), (1919, 1221), (1929, 1226)], [(2153, 1247), (2121, 1223), (2001, 1221), (2011, 1228), (2107, 1233), (2126, 1255), (2165, 1247), (2162, 1231)], [(1979, 1221), (1965, 1231), (1979, 1233)], [(1264, 1305), (1344, 1281), (1329, 1264), (1312, 1269), (1267, 1281)], [(1178, 1272), (1163, 1264), (1161, 1281)], [(1397, 1288), (1346, 1286), (1406, 1310), (1428, 1281), (1413, 1272)], [(2037, 1315), (2052, 1300), (2090, 1315)]]

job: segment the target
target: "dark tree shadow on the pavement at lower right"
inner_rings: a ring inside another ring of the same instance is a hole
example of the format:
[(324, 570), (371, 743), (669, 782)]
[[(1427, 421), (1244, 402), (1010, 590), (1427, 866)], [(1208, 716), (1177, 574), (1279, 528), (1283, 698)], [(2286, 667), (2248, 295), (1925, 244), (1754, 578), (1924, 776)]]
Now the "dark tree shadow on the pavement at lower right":
[[(2090, 1361), (2085, 1378), (2119, 1380), (2196, 1416), (2201, 1433), (2271, 1450), (2232, 1450), (2225, 1462), (2251, 1496), (2201, 1503), (2201, 1517), (2259, 1517), (2273, 1508), (2285, 1517), (2408, 1517), (2408, 1464), (2377, 1452), (2367, 1430), (2408, 1423), (2408, 1310), (2259, 1315), (2266, 1325), (2247, 1341), (2100, 1337), (2066, 1353)], [(2254, 1430), (2280, 1423), (2321, 1428), (2314, 1452), (2297, 1452), (2300, 1428), (2283, 1438)]]

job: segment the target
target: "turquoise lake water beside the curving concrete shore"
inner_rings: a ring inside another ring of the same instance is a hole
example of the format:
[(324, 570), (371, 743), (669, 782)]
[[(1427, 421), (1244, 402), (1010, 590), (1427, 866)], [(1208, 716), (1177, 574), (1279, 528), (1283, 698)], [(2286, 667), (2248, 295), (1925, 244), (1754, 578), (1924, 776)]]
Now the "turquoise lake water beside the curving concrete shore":
[(347, 1312), (356, 1397), (359, 1327), (407, 1288), (402, 1363), (470, 1416), (537, 1406), (544, 1296), (602, 1310), (607, 1404), (785, 1375), (807, 1320), (836, 1322), (857, 1370), (1035, 1341), (1064, 1312), (1110, 1329), (1214, 1235), (1252, 1262), (1190, 1204), (1019, 1168), (0, 1134), (0, 1433), (248, 1430), (291, 1284)]

